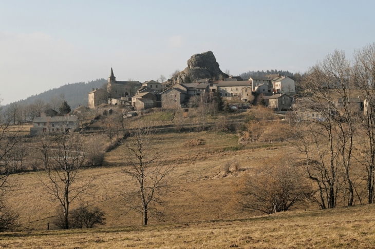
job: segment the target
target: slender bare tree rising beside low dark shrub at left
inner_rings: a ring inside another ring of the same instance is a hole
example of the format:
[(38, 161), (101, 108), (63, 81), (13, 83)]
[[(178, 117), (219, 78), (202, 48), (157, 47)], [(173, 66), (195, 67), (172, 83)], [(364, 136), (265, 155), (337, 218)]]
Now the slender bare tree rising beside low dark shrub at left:
[(39, 151), (44, 162), (40, 180), (47, 193), (60, 202), (64, 229), (69, 229), (70, 204), (89, 189), (92, 181), (80, 177), (86, 157), (82, 137), (66, 132), (58, 133), (53, 139), (45, 136)]

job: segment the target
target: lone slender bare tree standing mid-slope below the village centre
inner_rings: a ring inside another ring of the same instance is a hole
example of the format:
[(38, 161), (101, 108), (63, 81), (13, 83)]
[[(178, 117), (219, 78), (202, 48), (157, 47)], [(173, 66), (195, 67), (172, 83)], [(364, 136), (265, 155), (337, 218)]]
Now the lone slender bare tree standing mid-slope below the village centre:
[(154, 152), (155, 131), (151, 123), (139, 123), (130, 131), (124, 141), (125, 167), (123, 172), (134, 180), (133, 190), (123, 194), (127, 212), (136, 211), (142, 216), (142, 225), (147, 225), (151, 217), (161, 217), (162, 195), (170, 188), (167, 177), (173, 168), (156, 163), (158, 154)]

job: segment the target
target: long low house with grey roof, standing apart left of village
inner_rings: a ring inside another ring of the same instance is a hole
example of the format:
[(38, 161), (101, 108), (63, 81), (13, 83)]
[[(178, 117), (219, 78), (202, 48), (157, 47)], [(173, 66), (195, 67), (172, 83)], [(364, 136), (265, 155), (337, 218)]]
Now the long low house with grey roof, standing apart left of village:
[(76, 131), (78, 128), (79, 122), (76, 116), (35, 117), (33, 127), (30, 128), (30, 135)]

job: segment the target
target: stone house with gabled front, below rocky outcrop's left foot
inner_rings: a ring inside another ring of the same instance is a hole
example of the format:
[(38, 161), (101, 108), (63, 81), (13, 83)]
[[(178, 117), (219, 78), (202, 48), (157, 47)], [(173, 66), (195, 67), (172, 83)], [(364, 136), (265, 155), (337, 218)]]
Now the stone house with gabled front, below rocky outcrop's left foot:
[(165, 109), (180, 109), (188, 101), (188, 92), (180, 88), (168, 88), (161, 93), (161, 107)]

